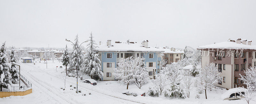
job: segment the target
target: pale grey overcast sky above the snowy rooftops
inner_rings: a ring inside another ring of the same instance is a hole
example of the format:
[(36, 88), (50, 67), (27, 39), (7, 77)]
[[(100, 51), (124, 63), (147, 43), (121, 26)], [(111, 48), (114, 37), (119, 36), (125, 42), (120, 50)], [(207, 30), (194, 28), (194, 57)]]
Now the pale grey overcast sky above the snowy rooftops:
[[(0, 42), (64, 48), (79, 35), (184, 48), (249, 39), (256, 42), (255, 0), (0, 0)], [(256, 43), (255, 43), (256, 44)], [(255, 45), (254, 44), (254, 45)], [(84, 44), (85, 45), (85, 44)]]

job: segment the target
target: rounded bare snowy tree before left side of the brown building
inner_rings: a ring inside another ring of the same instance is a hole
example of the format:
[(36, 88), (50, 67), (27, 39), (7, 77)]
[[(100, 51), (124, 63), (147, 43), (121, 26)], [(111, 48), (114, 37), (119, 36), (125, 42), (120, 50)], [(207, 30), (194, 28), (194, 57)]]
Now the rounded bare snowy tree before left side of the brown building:
[(205, 99), (207, 99), (206, 90), (212, 88), (220, 80), (220, 72), (214, 63), (208, 63), (202, 66), (197, 77), (197, 85), (205, 92)]

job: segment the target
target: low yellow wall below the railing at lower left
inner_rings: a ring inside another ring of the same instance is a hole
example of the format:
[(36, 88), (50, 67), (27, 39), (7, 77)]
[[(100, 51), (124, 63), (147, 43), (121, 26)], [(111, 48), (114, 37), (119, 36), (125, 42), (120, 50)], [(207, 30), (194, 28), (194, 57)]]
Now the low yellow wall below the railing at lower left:
[(32, 89), (26, 91), (16, 91), (16, 92), (0, 92), (0, 98), (9, 96), (24, 96), (32, 93)]

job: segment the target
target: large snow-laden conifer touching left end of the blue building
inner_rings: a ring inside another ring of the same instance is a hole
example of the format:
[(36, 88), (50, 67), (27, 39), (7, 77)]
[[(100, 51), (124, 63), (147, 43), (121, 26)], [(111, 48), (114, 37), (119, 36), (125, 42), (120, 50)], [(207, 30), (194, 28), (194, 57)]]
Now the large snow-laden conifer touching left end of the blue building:
[(80, 72), (98, 80), (98, 78), (101, 79), (101, 77), (103, 76), (103, 72), (101, 71), (101, 61), (99, 59), (99, 54), (94, 52), (94, 50), (96, 50), (98, 46), (93, 40), (92, 33), (90, 35), (91, 36), (87, 40), (89, 43), (87, 44), (86, 54), (83, 57), (84, 61), (82, 63), (82, 69), (80, 70)]

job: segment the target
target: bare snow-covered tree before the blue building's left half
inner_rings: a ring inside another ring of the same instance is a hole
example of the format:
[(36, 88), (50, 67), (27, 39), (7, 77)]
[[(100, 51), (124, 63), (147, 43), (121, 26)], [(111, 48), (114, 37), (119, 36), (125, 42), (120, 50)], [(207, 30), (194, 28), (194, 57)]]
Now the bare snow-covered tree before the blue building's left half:
[(124, 83), (128, 86), (134, 80), (134, 68), (132, 66), (140, 67), (135, 63), (132, 57), (128, 57), (126, 59), (121, 59), (119, 63), (117, 63), (118, 67), (114, 68), (113, 75), (118, 80), (119, 83)]

